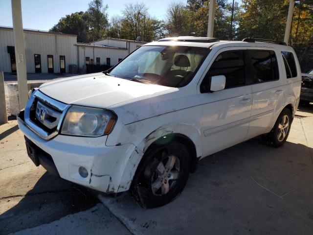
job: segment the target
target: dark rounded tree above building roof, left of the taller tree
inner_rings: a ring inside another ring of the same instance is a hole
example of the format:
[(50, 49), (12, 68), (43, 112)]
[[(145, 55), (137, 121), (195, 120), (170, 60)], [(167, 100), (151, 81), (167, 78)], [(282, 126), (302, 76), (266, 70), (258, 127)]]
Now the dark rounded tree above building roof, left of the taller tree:
[(89, 33), (86, 18), (86, 14), (83, 11), (66, 15), (49, 31), (76, 34), (77, 42), (86, 43), (88, 42), (87, 35)]

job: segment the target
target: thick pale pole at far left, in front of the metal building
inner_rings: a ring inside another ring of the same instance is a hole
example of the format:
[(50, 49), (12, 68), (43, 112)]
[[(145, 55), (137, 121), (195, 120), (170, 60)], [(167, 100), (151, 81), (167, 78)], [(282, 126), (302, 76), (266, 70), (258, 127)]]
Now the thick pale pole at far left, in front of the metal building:
[(28, 99), (21, 0), (11, 0), (11, 4), (12, 4), (15, 59), (16, 59), (16, 73), (18, 75), (19, 104), (21, 110), (26, 106), (26, 102)]

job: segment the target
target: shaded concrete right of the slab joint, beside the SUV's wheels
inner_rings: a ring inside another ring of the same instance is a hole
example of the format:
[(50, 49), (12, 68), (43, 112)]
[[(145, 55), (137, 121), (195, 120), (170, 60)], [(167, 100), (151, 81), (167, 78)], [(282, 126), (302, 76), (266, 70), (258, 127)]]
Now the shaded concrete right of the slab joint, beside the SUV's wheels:
[(310, 234), (312, 153), (255, 138), (201, 160), (180, 196), (161, 208), (143, 209), (130, 195), (103, 200), (143, 234)]

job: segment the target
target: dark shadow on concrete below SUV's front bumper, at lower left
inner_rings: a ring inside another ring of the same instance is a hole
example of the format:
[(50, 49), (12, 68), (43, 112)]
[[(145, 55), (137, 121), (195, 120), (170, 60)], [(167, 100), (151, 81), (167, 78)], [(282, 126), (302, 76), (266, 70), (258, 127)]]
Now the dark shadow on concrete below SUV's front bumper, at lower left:
[(67, 214), (88, 210), (99, 202), (89, 189), (47, 172), (25, 195), (9, 196), (2, 200), (11, 203), (16, 200), (18, 203), (0, 215), (1, 235), (50, 223)]

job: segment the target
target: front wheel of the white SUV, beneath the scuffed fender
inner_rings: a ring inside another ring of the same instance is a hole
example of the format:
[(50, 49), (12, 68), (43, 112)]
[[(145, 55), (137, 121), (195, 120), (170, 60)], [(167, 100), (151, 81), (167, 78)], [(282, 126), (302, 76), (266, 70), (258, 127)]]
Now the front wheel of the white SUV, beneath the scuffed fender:
[(177, 141), (155, 144), (144, 155), (132, 185), (134, 199), (144, 208), (163, 206), (185, 187), (190, 172), (187, 148)]

